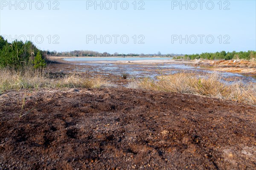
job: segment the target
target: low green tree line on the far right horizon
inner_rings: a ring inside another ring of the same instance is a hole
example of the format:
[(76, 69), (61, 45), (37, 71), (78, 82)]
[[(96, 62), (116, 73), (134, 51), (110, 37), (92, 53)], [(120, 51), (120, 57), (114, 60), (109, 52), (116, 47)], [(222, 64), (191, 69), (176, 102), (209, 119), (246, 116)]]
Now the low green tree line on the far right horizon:
[(256, 59), (256, 51), (240, 51), (240, 52), (215, 52), (215, 53), (202, 53), (202, 54), (192, 54), (192, 55), (185, 55), (182, 57), (177, 58), (184, 58), (184, 59)]

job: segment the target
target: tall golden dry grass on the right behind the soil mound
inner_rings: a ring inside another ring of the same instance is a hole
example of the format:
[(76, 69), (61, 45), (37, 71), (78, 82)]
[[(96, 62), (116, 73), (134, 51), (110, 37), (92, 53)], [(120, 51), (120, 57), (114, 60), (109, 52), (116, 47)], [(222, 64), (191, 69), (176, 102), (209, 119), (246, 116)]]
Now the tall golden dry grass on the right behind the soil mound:
[[(215, 97), (218, 99), (230, 99), (237, 102), (246, 102), (256, 105), (256, 85), (241, 82), (227, 84), (221, 81), (218, 74), (209, 74), (200, 77), (193, 73), (177, 73), (154, 81), (144, 78), (139, 82), (132, 82), (133, 86), (148, 90), (168, 91), (185, 94), (196, 94)], [(134, 85), (137, 83), (137, 85)]]

